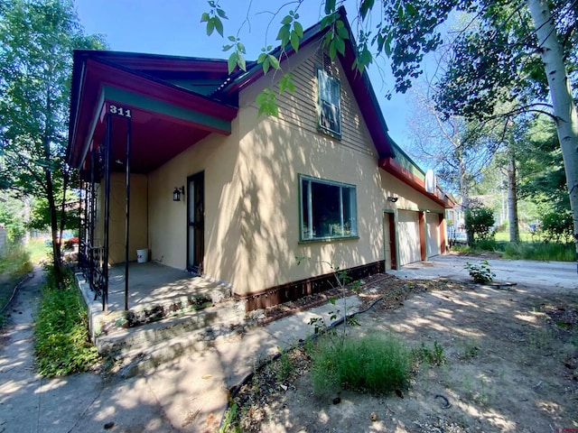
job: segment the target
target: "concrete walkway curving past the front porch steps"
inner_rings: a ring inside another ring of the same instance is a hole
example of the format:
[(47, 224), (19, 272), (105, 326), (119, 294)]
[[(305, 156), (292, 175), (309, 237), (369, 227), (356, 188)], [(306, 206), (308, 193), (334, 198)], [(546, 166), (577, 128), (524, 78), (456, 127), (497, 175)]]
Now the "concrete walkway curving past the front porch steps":
[[(335, 309), (324, 305), (245, 335), (221, 338), (200, 354), (130, 379), (82, 373), (46, 380), (33, 368), (33, 314), (42, 282), (42, 274), (36, 274), (23, 284), (0, 337), (0, 433), (213, 432), (228, 389), (278, 347), (309, 336), (310, 318), (329, 320), (329, 311)], [(357, 299), (347, 302), (348, 310), (357, 310)]]

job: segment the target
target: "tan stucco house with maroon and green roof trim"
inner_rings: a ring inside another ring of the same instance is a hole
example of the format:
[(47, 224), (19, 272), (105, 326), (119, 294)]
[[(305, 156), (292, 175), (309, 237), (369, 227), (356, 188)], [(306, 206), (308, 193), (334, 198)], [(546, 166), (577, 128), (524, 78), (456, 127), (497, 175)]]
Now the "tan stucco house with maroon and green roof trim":
[[(451, 200), (388, 136), (352, 45), (331, 60), (322, 36), (308, 29), (283, 73), (266, 75), (256, 63), (229, 76), (227, 60), (75, 51), (68, 161), (86, 260), (106, 273), (145, 250), (226, 281), (256, 309), (322, 290), (326, 263), (367, 275), (444, 253)], [(256, 96), (284, 73), (294, 92), (277, 94), (278, 117), (259, 116)]]

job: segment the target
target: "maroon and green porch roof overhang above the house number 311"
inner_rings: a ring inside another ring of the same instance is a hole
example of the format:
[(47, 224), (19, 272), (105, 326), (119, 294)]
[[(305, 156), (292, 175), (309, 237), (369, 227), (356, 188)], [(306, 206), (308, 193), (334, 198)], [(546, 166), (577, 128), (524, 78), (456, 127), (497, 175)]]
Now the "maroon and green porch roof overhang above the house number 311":
[[(206, 65), (203, 65), (206, 66)], [(131, 171), (146, 173), (211, 133), (231, 134), (238, 108), (215, 98), (174, 86), (161, 79), (77, 51), (72, 77), (67, 161), (88, 169), (90, 151), (104, 142), (111, 107), (111, 161), (126, 163), (126, 110), (131, 121)]]

